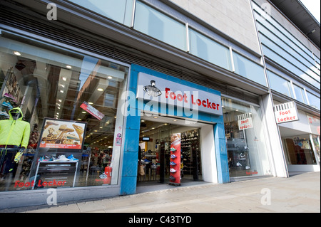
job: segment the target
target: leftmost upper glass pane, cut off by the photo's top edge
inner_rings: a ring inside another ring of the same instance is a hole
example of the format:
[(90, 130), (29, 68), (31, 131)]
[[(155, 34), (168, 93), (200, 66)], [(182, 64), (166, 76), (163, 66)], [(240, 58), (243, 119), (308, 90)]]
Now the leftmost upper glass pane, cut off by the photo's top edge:
[(106, 16), (113, 21), (131, 26), (131, 18), (133, 11), (133, 0), (68, 0), (79, 6), (83, 6), (96, 14)]

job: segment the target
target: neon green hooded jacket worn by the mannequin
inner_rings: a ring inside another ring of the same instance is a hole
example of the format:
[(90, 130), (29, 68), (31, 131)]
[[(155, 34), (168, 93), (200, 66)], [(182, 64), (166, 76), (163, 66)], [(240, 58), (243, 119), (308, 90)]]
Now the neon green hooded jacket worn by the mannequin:
[[(18, 118), (13, 115), (19, 113)], [(24, 117), (19, 107), (9, 110), (9, 120), (0, 120), (0, 145), (21, 146), (26, 148), (30, 136), (30, 124), (22, 120)]]

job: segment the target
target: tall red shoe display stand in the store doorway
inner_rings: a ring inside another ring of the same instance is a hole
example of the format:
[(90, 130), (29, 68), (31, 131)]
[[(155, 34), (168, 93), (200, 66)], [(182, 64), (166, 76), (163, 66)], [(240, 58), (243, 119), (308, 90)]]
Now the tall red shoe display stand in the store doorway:
[(180, 185), (180, 133), (170, 137), (170, 184)]

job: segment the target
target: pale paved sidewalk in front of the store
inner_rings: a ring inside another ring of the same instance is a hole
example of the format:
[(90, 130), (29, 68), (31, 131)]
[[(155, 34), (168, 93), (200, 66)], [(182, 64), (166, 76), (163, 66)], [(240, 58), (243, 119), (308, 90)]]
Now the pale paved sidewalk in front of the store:
[[(269, 199), (270, 195), (270, 199)], [(58, 206), (6, 209), (26, 213), (320, 213), (320, 172), (230, 184), (200, 184)]]

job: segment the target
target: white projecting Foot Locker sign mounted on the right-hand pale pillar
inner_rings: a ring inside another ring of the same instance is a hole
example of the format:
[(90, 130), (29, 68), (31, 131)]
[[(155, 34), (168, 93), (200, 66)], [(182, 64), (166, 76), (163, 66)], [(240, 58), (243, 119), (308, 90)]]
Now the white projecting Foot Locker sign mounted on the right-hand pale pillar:
[(299, 120), (295, 102), (287, 102), (274, 107), (275, 120), (277, 124)]

